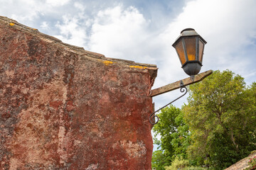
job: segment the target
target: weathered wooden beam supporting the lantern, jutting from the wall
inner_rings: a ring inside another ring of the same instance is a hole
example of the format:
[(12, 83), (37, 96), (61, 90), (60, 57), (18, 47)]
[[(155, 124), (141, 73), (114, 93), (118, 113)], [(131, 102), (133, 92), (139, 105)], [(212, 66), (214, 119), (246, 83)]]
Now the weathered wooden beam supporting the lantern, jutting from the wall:
[[(192, 80), (191, 77), (186, 79), (182, 79), (184, 86), (188, 86), (190, 84), (197, 83), (198, 81), (202, 81), (204, 78), (208, 77), (210, 74), (213, 73), (213, 70), (208, 70), (206, 72), (202, 72), (201, 74), (197, 74), (194, 79)], [(158, 96), (160, 94), (164, 94), (169, 91), (173, 91), (181, 87), (181, 80), (176, 81), (172, 84), (167, 84), (166, 86), (161, 86), (157, 89), (153, 89), (151, 92), (151, 97)]]

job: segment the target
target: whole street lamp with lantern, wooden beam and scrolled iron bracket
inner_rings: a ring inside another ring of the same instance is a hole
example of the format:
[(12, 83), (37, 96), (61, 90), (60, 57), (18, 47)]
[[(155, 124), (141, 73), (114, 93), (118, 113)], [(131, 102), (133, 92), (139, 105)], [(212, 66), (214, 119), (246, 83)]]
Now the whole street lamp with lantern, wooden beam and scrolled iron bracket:
[[(204, 74), (202, 74), (202, 77), (199, 77), (196, 81), (194, 81), (195, 75), (200, 72), (202, 67), (203, 49), (206, 43), (206, 40), (203, 40), (203, 38), (200, 35), (198, 35), (198, 33), (196, 33), (196, 31), (193, 28), (186, 28), (182, 30), (181, 35), (179, 35), (179, 37), (176, 39), (176, 41), (173, 44), (173, 47), (176, 49), (178, 58), (181, 61), (181, 68), (183, 68), (186, 74), (191, 76), (191, 80), (183, 79), (181, 81), (176, 81), (173, 84), (168, 84), (158, 89), (154, 89), (153, 91), (151, 91), (151, 96), (153, 97), (159, 94), (164, 94), (168, 91), (181, 88), (181, 93), (184, 92), (184, 94), (178, 97), (181, 98), (182, 96), (185, 96), (185, 94), (188, 92), (188, 89), (186, 88), (187, 85), (201, 81), (205, 77), (212, 74), (211, 70), (207, 71)], [(183, 81), (186, 81), (186, 83), (183, 83)], [(178, 98), (176, 98), (174, 101), (178, 100)], [(169, 106), (174, 101), (171, 101), (170, 103), (166, 104), (166, 106)], [(166, 106), (162, 108), (165, 108)], [(159, 110), (155, 111), (150, 115), (149, 122), (152, 125), (158, 123), (159, 117), (155, 115), (155, 113), (160, 111), (162, 108), (159, 108)]]

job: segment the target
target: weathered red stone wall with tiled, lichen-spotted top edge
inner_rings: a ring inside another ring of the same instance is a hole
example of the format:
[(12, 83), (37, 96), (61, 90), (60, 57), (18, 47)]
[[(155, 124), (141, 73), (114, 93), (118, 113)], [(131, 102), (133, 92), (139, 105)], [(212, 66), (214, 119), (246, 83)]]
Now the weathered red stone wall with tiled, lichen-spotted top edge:
[(0, 17), (0, 169), (151, 169), (156, 71)]

